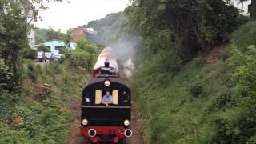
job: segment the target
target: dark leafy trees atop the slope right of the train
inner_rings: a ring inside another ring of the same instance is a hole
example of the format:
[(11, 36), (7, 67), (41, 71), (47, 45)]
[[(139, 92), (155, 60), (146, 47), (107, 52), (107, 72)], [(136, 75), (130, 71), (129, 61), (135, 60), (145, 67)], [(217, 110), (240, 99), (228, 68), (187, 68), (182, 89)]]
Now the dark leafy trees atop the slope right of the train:
[(129, 26), (142, 34), (149, 53), (162, 50), (155, 44), (164, 35), (168, 42), (178, 46), (182, 61), (218, 42), (226, 42), (229, 33), (241, 22), (238, 10), (222, 0), (135, 0), (125, 12)]

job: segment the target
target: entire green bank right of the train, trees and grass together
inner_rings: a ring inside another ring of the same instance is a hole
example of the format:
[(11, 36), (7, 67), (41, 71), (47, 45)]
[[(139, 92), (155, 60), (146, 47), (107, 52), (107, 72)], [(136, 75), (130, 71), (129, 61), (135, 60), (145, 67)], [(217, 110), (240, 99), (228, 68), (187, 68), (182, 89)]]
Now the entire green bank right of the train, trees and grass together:
[(125, 12), (146, 47), (131, 85), (146, 143), (254, 143), (255, 22), (241, 26), (222, 0), (135, 0)]

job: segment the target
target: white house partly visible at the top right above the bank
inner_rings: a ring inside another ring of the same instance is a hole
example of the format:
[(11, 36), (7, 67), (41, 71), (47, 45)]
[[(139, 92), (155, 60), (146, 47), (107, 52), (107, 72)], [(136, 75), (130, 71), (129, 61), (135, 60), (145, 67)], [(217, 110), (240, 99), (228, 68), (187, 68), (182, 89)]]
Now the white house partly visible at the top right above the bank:
[(250, 14), (250, 4), (251, 0), (246, 2), (240, 2), (239, 0), (231, 0), (230, 4), (236, 8), (238, 8), (242, 14), (249, 15)]

